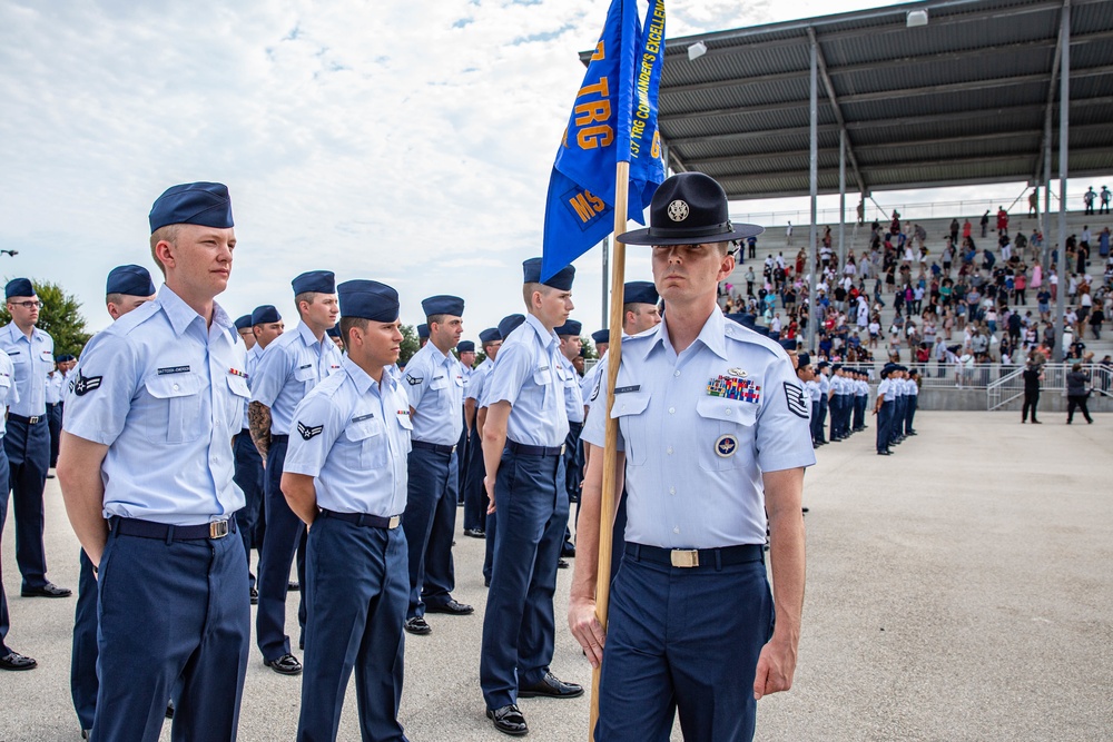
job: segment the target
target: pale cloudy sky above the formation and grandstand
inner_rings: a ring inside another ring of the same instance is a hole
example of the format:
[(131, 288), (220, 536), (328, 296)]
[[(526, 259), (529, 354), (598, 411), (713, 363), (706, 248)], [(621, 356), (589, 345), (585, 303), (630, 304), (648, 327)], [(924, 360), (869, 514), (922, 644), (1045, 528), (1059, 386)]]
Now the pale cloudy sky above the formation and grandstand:
[[(674, 0), (668, 37), (887, 4)], [(607, 0), (4, 0), (0, 3), (0, 277), (52, 280), (108, 324), (105, 276), (157, 275), (151, 201), (229, 186), (239, 247), (233, 316), (289, 279), (466, 300), (465, 337), (520, 311), (541, 253), (555, 147)], [(627, 276), (649, 278), (632, 256)], [(599, 326), (598, 250), (574, 300)]]

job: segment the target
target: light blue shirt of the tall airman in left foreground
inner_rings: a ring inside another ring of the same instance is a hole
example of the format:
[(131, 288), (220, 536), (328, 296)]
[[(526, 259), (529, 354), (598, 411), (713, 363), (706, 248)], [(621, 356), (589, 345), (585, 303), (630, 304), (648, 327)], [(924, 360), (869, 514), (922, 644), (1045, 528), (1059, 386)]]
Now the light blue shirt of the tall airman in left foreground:
[(244, 506), (233, 482), (247, 372), (219, 305), (205, 326), (169, 287), (97, 333), (66, 397), (63, 429), (108, 446), (105, 517), (198, 525)]

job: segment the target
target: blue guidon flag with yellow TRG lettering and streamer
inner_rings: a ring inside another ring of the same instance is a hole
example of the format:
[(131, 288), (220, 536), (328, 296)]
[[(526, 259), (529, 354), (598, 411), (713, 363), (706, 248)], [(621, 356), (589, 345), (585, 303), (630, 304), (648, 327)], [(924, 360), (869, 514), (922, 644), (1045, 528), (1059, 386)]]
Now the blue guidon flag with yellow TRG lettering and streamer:
[(663, 60), (664, 0), (650, 0), (644, 27), (636, 0), (611, 0), (549, 180), (541, 280), (611, 234), (618, 162), (630, 162), (627, 216), (646, 224), (664, 180), (657, 128)]

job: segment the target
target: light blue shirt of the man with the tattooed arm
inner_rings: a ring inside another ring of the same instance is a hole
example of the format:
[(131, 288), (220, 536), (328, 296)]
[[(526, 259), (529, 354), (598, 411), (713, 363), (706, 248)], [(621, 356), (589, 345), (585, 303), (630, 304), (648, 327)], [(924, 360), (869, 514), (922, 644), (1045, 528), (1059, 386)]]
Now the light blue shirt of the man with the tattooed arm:
[(341, 368), (343, 356), (327, 335), (318, 340), (302, 323), (283, 333), (259, 356), (252, 402), (270, 408), (272, 435), (293, 433), (294, 408), (313, 387)]

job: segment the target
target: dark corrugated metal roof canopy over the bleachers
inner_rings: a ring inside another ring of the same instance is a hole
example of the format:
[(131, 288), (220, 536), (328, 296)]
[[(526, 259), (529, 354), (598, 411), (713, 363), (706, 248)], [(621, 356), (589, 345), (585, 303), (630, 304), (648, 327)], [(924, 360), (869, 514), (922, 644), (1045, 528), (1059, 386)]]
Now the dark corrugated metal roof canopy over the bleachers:
[[(1070, 1), (1070, 176), (1113, 172), (1113, 2)], [(907, 27), (913, 10), (927, 26)], [(1048, 106), (1057, 177), (1062, 13), (1063, 0), (929, 0), (669, 39), (669, 164), (732, 200), (807, 195), (815, 34), (820, 194), (839, 190), (844, 127), (851, 194), (1042, 180)]]

